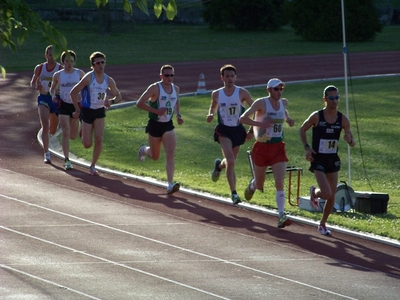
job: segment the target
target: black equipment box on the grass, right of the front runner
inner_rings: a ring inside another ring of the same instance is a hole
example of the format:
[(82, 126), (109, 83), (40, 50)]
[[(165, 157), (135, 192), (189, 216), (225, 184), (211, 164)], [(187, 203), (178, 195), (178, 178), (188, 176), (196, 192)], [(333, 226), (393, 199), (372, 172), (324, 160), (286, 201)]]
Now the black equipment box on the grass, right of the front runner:
[(357, 192), (355, 191), (356, 203), (354, 209), (367, 214), (385, 214), (389, 195), (383, 193)]

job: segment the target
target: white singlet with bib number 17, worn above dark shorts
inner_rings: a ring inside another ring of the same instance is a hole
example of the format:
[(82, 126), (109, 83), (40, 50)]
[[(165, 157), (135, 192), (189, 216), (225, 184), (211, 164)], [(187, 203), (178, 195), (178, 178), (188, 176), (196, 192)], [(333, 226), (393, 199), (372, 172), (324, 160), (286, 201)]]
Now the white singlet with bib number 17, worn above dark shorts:
[(239, 126), (239, 118), (245, 111), (245, 107), (240, 101), (240, 89), (235, 86), (231, 96), (227, 96), (224, 88), (217, 90), (218, 92), (218, 124), (225, 126)]

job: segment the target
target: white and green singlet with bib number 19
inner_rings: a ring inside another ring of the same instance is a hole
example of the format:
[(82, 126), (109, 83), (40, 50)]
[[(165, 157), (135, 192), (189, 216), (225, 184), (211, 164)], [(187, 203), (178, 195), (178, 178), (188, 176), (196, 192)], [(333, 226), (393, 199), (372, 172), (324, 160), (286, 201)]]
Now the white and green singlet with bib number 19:
[(175, 111), (175, 105), (178, 101), (178, 95), (176, 94), (175, 85), (171, 83), (172, 92), (169, 94), (164, 90), (161, 82), (157, 82), (158, 85), (158, 99), (154, 102), (149, 101), (150, 107), (153, 108), (163, 108), (166, 107), (167, 111), (164, 115), (159, 116), (155, 113), (149, 112), (149, 119), (158, 122), (169, 122)]

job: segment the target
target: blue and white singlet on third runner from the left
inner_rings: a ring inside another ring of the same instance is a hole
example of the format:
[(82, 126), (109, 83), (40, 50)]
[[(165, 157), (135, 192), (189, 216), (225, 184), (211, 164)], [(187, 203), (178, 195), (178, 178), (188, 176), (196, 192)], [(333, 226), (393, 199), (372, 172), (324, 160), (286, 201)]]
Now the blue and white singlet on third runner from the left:
[(82, 107), (98, 109), (104, 107), (107, 97), (108, 76), (103, 75), (103, 83), (98, 83), (93, 71), (91, 72), (90, 84), (82, 89)]

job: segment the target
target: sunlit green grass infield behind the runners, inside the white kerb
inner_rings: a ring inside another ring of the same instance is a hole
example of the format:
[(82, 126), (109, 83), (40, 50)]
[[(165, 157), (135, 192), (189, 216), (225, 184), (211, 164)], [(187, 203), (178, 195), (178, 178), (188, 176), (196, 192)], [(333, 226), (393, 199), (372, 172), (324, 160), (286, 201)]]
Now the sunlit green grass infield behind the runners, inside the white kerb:
[[(374, 191), (388, 193), (388, 213), (369, 215), (360, 212), (333, 213), (329, 224), (400, 240), (400, 139), (398, 116), (393, 108), (399, 101), (397, 83), (399, 78), (357, 79), (352, 82), (354, 93), (349, 96), (351, 109), (349, 115), (352, 130), (357, 137), (357, 146), (351, 150), (351, 187), (355, 191)], [(343, 82), (332, 82), (344, 91)], [(322, 107), (321, 91), (326, 83), (308, 83), (288, 85), (284, 96), (289, 99), (289, 112), (296, 124), (293, 128), (285, 128), (285, 141), (289, 165), (303, 168), (301, 177), (301, 196), (308, 195), (308, 188), (315, 184), (315, 179), (304, 159), (304, 150), (298, 136), (298, 129), (308, 115)], [(254, 99), (265, 95), (264, 89), (250, 90)], [(342, 96), (344, 96), (342, 94)], [(345, 97), (340, 102), (340, 110), (345, 112)], [(210, 95), (181, 98), (181, 111), (185, 123), (176, 125), (178, 145), (176, 149), (175, 180), (182, 186), (199, 191), (229, 197), (230, 191), (224, 174), (217, 183), (210, 180), (210, 171), (216, 157), (221, 157), (220, 147), (213, 141), (213, 127), (205, 116), (208, 111)], [(357, 113), (355, 118), (354, 111)], [(140, 144), (147, 141), (144, 127), (147, 114), (135, 106), (112, 110), (107, 113), (104, 150), (99, 165), (129, 172), (135, 175), (149, 176), (166, 181), (165, 155), (162, 153), (157, 162), (137, 160)], [(359, 129), (359, 132), (358, 132)], [(358, 135), (359, 138), (358, 139)], [(310, 140), (310, 138), (309, 138)], [(339, 180), (348, 179), (347, 151), (341, 142), (340, 157), (342, 170)], [(246, 150), (252, 143), (246, 143), (239, 154), (236, 175), (237, 188), (241, 195), (251, 178)], [(83, 149), (79, 141), (72, 144), (71, 151), (78, 156), (90, 160), (92, 150)], [(291, 199), (295, 201), (296, 176), (293, 177)], [(288, 180), (286, 180), (286, 187)], [(273, 178), (267, 176), (265, 192), (257, 192), (251, 203), (276, 208)], [(321, 213), (300, 210), (286, 205), (293, 215), (319, 220)]]

